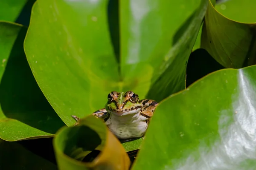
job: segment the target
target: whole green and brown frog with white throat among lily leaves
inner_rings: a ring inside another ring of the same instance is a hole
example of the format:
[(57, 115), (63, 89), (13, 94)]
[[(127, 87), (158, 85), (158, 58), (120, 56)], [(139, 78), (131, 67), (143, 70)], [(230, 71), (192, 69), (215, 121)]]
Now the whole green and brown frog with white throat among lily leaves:
[[(158, 103), (152, 99), (139, 99), (133, 91), (108, 94), (105, 108), (92, 114), (102, 119), (108, 129), (121, 140), (138, 139), (145, 135)], [(78, 124), (79, 118), (72, 116)]]

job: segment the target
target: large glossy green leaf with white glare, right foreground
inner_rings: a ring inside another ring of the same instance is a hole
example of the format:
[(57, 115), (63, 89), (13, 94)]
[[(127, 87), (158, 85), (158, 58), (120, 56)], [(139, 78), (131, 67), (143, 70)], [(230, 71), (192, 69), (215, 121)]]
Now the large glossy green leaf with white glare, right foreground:
[(133, 170), (252, 170), (256, 66), (216, 71), (163, 100)]

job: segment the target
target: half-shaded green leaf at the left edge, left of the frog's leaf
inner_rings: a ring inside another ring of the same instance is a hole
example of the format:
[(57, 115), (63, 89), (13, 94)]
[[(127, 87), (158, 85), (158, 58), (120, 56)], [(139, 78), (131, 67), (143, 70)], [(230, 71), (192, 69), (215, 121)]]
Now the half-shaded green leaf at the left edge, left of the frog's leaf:
[(38, 87), (23, 51), (26, 27), (0, 22), (0, 138), (51, 137), (64, 125)]

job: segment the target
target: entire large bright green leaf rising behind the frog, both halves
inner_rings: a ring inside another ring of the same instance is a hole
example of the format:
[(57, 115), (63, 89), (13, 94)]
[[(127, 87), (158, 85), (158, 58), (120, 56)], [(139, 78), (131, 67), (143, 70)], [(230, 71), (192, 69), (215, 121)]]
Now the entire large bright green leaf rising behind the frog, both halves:
[(75, 123), (71, 115), (103, 108), (110, 91), (133, 90), (140, 99), (148, 93), (160, 101), (185, 88), (186, 62), (207, 0), (120, 1), (120, 56), (118, 35), (109, 30), (115, 23), (107, 11), (111, 2), (38, 0), (32, 10), (26, 56), (38, 85), (68, 126)]

